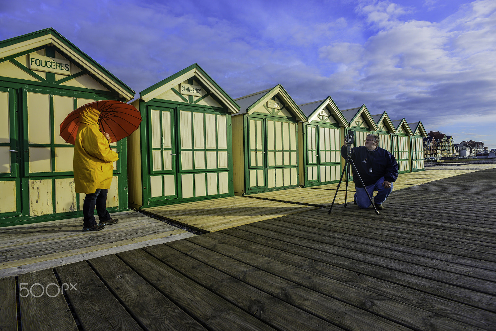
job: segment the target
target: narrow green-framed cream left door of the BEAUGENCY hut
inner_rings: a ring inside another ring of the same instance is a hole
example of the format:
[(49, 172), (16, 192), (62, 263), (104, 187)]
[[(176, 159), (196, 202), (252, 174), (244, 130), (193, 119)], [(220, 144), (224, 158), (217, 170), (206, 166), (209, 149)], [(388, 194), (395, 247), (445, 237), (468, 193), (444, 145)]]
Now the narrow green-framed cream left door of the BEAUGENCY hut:
[(148, 107), (148, 111), (149, 200), (174, 199), (178, 197), (174, 109)]

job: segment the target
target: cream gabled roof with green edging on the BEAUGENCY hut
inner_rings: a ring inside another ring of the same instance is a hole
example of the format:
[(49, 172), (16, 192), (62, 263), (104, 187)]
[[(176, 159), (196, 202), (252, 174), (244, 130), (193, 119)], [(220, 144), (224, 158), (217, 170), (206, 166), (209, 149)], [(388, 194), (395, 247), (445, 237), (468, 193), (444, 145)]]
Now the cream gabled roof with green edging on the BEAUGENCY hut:
[(167, 77), (147, 89), (144, 89), (139, 92), (139, 96), (145, 102), (148, 102), (191, 77), (195, 77), (203, 85), (205, 85), (211, 93), (213, 93), (215, 97), (229, 109), (229, 111), (233, 113), (240, 111), (240, 106), (236, 103), (236, 101), (234, 101), (234, 99), (231, 98), (231, 96), (227, 94), (226, 91), (224, 91), (219, 84), (217, 84), (217, 82), (198, 65), (198, 63), (191, 64), (174, 75)]

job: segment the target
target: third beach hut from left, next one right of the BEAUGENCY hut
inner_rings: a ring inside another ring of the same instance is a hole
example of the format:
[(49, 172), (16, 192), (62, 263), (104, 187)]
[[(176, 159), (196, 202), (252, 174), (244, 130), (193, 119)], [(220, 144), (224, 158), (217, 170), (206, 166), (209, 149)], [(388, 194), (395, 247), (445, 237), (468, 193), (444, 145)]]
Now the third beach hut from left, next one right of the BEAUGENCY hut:
[(243, 195), (299, 186), (298, 122), (307, 117), (284, 88), (236, 99), (232, 115), (234, 192)]

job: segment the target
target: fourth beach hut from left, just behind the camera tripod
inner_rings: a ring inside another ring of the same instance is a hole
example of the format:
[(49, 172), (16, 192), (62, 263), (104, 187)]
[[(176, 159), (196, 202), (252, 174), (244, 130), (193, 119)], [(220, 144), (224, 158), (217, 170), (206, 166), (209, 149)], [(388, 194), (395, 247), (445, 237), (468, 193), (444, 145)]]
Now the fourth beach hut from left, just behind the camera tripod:
[(348, 122), (331, 97), (300, 105), (308, 122), (298, 123), (300, 185), (315, 186), (339, 181), (340, 150)]

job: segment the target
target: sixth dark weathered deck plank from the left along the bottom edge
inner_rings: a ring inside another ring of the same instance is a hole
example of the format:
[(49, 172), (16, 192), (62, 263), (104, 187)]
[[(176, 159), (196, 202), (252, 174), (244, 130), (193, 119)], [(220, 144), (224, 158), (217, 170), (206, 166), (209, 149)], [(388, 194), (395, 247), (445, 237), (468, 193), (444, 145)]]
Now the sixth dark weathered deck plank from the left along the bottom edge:
[(343, 330), (171, 247), (157, 245), (145, 250), (276, 329), (287, 331)]

